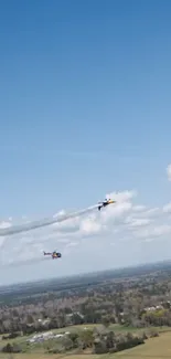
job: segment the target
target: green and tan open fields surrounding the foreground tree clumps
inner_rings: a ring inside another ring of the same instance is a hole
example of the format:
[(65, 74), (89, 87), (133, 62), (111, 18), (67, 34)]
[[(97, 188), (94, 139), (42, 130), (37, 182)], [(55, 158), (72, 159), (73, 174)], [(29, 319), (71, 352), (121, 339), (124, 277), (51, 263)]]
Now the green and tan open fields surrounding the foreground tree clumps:
[[(97, 325), (86, 325), (86, 328), (88, 329), (93, 329), (94, 327), (97, 327)], [(53, 332), (65, 332), (65, 331), (70, 331), (70, 332), (78, 332), (81, 330), (84, 330), (85, 328), (85, 325), (79, 325), (79, 326), (72, 326), (72, 327), (67, 327), (67, 328), (63, 328), (63, 329), (54, 329), (54, 330), (51, 330)], [(132, 328), (132, 327), (125, 327), (125, 326), (120, 326), (120, 325), (111, 325), (110, 326), (110, 329), (113, 329), (114, 331), (116, 332), (140, 332), (140, 331), (146, 331), (148, 332), (148, 330), (150, 331), (150, 328), (143, 328), (143, 329), (136, 329), (136, 328)], [(115, 358), (117, 356), (121, 356), (121, 358), (132, 358), (137, 356), (141, 356), (146, 359), (148, 359), (148, 352), (150, 355), (149, 358), (152, 357), (152, 351), (159, 347), (159, 352), (162, 352), (164, 350), (167, 350), (167, 352), (170, 352), (170, 358), (171, 358), (171, 328), (169, 327), (156, 327), (156, 328), (152, 328), (152, 329), (157, 329), (157, 331), (161, 332), (160, 337), (158, 338), (152, 338), (152, 339), (148, 339), (147, 342), (142, 346), (139, 346), (139, 347), (136, 347), (133, 349), (129, 349), (129, 350), (125, 350), (125, 351), (120, 351), (118, 353), (115, 353)], [(32, 335), (33, 336), (33, 335)], [(19, 353), (19, 355), (12, 355), (11, 357), (8, 355), (8, 353), (0, 353), (0, 359), (2, 358), (8, 358), (8, 359), (18, 359), (18, 358), (22, 358), (22, 359), (29, 359), (30, 357), (32, 359), (36, 359), (36, 358), (44, 358), (44, 359), (49, 359), (50, 357), (51, 358), (55, 358), (55, 359), (60, 359), (60, 358), (71, 358), (71, 359), (83, 359), (83, 358), (87, 358), (87, 359), (97, 359), (97, 358), (101, 358), (101, 359), (106, 359), (108, 358), (109, 355), (88, 355), (88, 352), (85, 352), (85, 353), (82, 353), (82, 355), (72, 355), (72, 353), (61, 353), (61, 355), (45, 355), (45, 351), (46, 351), (46, 348), (50, 346), (51, 347), (51, 344), (52, 341), (54, 342), (53, 339), (50, 339), (47, 341), (44, 341), (42, 344), (39, 344), (39, 342), (34, 342), (32, 345), (26, 345), (26, 339), (31, 338), (32, 336), (26, 336), (26, 337), (19, 337), (19, 338), (15, 338), (15, 339), (10, 339), (10, 340), (1, 340), (0, 342), (0, 347), (4, 346), (7, 342), (10, 342), (10, 344), (18, 344), (21, 346), (23, 352), (22, 353)], [(167, 348), (167, 349), (165, 349)], [(158, 350), (156, 351), (158, 353)], [(110, 355), (110, 358), (113, 358), (114, 355)], [(156, 358), (157, 356), (153, 355), (153, 358)], [(160, 358), (157, 357), (157, 358)], [(162, 358), (162, 357), (161, 357)], [(165, 353), (164, 353), (164, 358), (165, 358)]]

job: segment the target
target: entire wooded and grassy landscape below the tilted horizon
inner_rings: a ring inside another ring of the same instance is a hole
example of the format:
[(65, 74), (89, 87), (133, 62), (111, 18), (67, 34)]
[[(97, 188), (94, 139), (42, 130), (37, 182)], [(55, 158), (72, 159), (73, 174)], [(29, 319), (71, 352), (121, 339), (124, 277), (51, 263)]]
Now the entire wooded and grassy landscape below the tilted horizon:
[(1, 287), (0, 358), (169, 357), (170, 278), (165, 262)]

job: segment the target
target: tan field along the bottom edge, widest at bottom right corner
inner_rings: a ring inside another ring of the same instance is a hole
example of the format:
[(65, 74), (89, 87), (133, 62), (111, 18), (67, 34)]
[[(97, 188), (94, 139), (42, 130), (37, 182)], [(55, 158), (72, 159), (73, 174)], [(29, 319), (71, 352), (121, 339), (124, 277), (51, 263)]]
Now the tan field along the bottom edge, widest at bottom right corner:
[(164, 332), (159, 338), (151, 338), (146, 341), (145, 345), (138, 346), (132, 349), (124, 350), (113, 355), (43, 355), (41, 352), (36, 353), (20, 353), (12, 355), (11, 358), (9, 355), (0, 355), (0, 359), (151, 359), (151, 358), (171, 358), (171, 332)]

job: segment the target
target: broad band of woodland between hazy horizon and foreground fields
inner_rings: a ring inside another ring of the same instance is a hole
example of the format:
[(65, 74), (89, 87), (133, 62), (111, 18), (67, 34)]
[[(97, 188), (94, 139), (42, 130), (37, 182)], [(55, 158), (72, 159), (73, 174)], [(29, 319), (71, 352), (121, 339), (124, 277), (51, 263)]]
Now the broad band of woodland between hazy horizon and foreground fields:
[[(31, 298), (30, 298), (31, 299)], [(108, 281), (101, 286), (47, 294), (36, 303), (0, 306), (0, 334), (44, 331), (81, 324), (171, 326), (170, 277)]]

